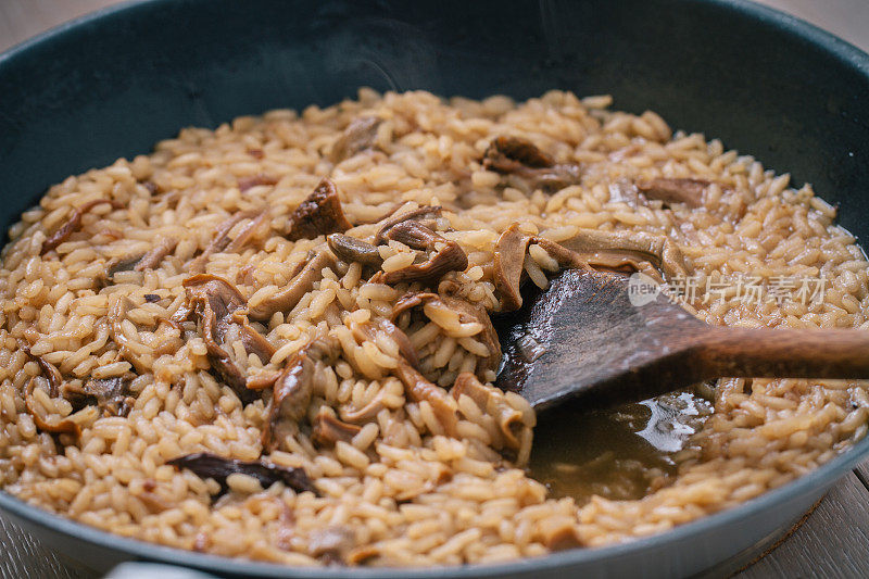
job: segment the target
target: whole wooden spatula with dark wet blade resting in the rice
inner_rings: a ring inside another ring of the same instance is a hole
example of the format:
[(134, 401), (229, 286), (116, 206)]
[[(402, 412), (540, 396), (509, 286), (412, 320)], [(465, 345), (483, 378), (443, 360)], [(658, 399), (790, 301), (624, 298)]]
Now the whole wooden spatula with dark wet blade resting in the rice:
[(567, 269), (495, 319), (496, 385), (544, 410), (577, 397), (643, 400), (721, 377), (869, 378), (869, 331), (709, 326), (663, 294), (629, 299), (630, 285), (624, 274)]

